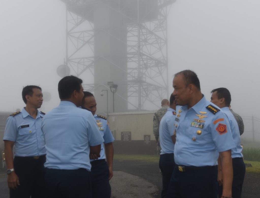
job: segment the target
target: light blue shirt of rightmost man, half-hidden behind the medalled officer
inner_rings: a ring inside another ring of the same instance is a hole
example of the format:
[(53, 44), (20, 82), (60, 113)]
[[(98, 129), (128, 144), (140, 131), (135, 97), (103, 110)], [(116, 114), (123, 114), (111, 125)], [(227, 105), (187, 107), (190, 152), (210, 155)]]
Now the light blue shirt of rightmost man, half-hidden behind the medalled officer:
[(240, 145), (240, 133), (239, 133), (239, 128), (238, 128), (237, 121), (236, 121), (235, 117), (233, 116), (233, 114), (231, 113), (231, 111), (229, 111), (228, 107), (223, 107), (223, 108), (221, 108), (221, 110), (228, 117), (228, 120), (229, 120), (229, 123), (230, 123), (232, 137), (233, 137), (234, 143), (236, 145), (235, 148), (231, 149), (231, 157), (232, 158), (243, 157), (243, 154), (242, 154), (243, 148)]

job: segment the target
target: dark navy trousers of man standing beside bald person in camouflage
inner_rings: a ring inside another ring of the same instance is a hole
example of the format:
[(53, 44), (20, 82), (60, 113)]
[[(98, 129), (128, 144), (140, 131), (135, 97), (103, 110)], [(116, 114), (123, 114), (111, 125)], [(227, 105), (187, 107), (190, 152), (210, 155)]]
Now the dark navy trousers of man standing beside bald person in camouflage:
[(166, 195), (167, 195), (168, 186), (170, 184), (172, 172), (173, 172), (173, 169), (175, 167), (173, 153), (160, 155), (159, 167), (160, 167), (161, 172), (162, 172), (161, 197), (165, 198)]

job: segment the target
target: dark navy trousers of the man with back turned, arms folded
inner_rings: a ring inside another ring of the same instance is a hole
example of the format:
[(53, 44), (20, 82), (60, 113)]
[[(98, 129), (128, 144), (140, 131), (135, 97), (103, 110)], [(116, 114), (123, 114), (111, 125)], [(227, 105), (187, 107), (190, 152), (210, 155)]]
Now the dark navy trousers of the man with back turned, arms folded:
[(46, 168), (47, 198), (92, 198), (90, 172), (84, 168), (62, 170)]

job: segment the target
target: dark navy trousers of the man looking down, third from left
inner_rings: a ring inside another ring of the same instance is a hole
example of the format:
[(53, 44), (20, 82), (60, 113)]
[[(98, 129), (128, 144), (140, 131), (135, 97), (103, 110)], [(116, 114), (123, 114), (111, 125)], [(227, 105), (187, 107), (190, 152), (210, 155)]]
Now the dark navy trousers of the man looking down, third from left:
[(105, 159), (94, 160), (91, 163), (90, 178), (93, 198), (109, 198), (111, 187), (108, 180), (109, 170)]

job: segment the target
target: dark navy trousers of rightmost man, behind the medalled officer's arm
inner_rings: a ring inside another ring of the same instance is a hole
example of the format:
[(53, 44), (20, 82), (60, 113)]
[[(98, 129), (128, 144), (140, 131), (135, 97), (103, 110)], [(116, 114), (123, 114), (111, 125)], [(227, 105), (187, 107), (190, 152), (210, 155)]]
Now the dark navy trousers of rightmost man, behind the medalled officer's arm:
[[(245, 178), (245, 164), (242, 157), (232, 158), (233, 182), (232, 197), (241, 198), (242, 186)], [(223, 186), (219, 186), (218, 197), (222, 195)]]

